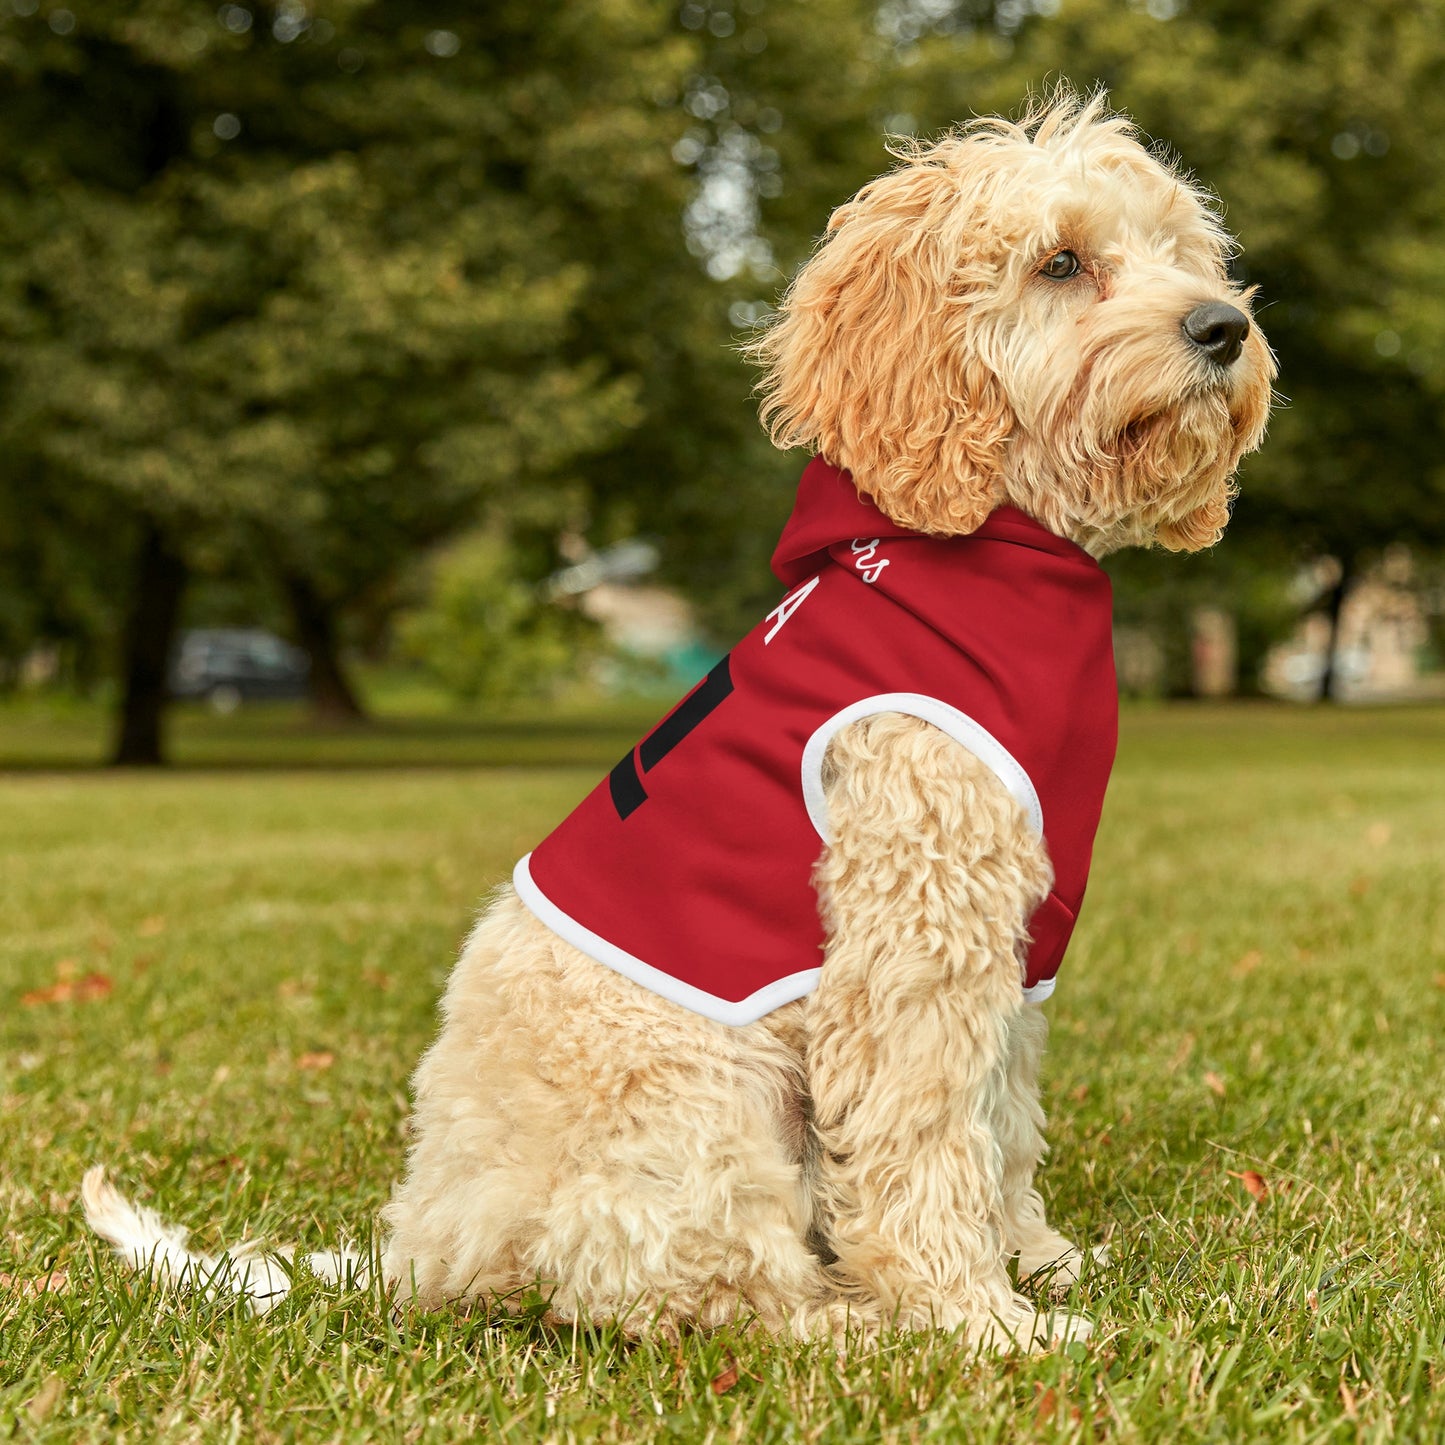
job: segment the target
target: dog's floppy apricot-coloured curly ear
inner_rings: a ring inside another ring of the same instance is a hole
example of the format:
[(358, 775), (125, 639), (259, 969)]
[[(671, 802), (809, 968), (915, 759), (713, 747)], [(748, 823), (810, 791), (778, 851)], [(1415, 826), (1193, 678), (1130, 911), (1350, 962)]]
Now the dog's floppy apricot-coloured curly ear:
[(961, 280), (967, 146), (918, 152), (840, 207), (749, 347), (775, 445), (814, 448), (894, 522), (935, 533), (972, 532), (1003, 501), (1013, 428)]

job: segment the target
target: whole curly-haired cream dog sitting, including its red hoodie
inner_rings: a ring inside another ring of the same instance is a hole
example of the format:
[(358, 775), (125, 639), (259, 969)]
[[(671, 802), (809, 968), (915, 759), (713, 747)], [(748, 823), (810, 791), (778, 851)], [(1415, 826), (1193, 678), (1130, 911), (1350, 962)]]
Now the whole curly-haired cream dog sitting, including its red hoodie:
[[(754, 347), (773, 439), (819, 457), (790, 590), (467, 942), (386, 1209), (397, 1289), (1087, 1332), (1007, 1272), (1079, 1263), (1035, 1189), (1038, 998), (1113, 760), (1095, 559), (1215, 542), (1264, 431), (1228, 253), (1066, 94), (837, 211)], [(98, 1170), (87, 1202), (131, 1257), (175, 1244)]]

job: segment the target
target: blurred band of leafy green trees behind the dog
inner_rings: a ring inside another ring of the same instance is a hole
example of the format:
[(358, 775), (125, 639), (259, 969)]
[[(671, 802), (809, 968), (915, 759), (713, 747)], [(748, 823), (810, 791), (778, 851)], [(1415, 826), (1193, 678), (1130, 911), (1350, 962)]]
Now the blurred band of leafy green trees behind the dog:
[(0, 0), (0, 676), (110, 686), (121, 762), (184, 621), (329, 718), (403, 607), (514, 688), (559, 548), (636, 533), (725, 643), (798, 471), (737, 340), (884, 131), (1066, 75), (1227, 198), (1280, 355), (1225, 546), (1114, 565), (1169, 685), (1207, 605), (1247, 682), (1302, 568), (1445, 551), (1442, 71), (1442, 0)]

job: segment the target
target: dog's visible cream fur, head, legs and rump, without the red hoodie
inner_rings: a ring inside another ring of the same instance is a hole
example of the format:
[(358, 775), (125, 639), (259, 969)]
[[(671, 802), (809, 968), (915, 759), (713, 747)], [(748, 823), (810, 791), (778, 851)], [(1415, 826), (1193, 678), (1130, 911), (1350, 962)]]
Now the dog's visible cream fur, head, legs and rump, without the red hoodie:
[[(926, 533), (1012, 503), (1095, 556), (1208, 546), (1273, 377), (1228, 253), (1101, 100), (971, 123), (832, 217), (756, 345), (764, 418)], [(821, 981), (754, 1023), (669, 1003), (497, 894), (416, 1072), (386, 1209), (403, 1296), (540, 1285), (559, 1319), (663, 1334), (1087, 1332), (1007, 1269), (1068, 1280), (1081, 1259), (1035, 1189), (1045, 1020), (1017, 959), (1043, 845), (993, 769), (915, 717), (851, 724), (824, 776)], [(944, 922), (909, 928), (915, 910)], [(162, 1247), (184, 1272), (98, 1170), (87, 1207), (131, 1259)]]

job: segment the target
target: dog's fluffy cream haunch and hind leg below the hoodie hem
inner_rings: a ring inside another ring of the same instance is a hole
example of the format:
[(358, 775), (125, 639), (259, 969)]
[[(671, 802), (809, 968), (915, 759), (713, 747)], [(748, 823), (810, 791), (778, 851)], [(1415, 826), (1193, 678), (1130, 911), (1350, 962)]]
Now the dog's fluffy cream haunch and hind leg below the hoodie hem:
[(506, 889), (444, 1013), (386, 1209), (403, 1298), (507, 1308), (539, 1290), (556, 1319), (672, 1335), (786, 1331), (825, 1292), (806, 1243), (802, 1004), (714, 1023), (584, 957)]

